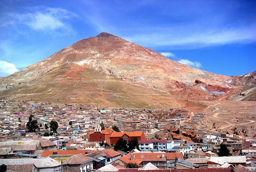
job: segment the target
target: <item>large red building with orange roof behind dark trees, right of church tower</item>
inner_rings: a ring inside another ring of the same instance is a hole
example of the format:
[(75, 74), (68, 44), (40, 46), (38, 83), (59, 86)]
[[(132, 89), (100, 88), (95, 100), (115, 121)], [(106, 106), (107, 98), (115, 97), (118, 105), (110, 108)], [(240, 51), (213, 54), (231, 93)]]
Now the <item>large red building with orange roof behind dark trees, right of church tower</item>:
[(116, 142), (120, 138), (127, 140), (127, 141), (130, 141), (133, 138), (137, 138), (138, 141), (146, 140), (146, 137), (145, 137), (145, 134), (143, 133), (143, 131), (113, 132), (110, 135), (110, 143), (116, 144)]

